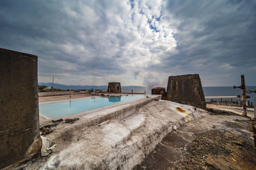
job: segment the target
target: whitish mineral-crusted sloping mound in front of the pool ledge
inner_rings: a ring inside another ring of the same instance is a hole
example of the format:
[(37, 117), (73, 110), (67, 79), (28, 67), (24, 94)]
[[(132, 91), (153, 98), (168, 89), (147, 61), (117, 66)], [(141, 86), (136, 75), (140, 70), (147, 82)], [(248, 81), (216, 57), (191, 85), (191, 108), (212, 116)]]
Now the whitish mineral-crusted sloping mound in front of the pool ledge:
[[(180, 113), (176, 108), (186, 113)], [(157, 143), (205, 110), (171, 101), (152, 101), (122, 120), (111, 119), (101, 126), (81, 126), (66, 141), (58, 141), (51, 155), (27, 164), (28, 169), (132, 169)]]

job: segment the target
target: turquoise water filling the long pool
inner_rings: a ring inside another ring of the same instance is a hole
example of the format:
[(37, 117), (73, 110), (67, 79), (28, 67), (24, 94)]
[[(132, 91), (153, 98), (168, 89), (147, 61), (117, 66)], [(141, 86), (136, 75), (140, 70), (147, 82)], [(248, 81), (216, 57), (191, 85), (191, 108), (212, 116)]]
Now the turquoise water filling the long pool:
[(39, 113), (48, 118), (60, 118), (82, 113), (88, 110), (95, 110), (105, 106), (110, 106), (125, 101), (140, 99), (145, 95), (133, 95), (122, 97), (93, 97), (84, 99), (74, 99), (70, 101), (60, 101), (54, 103), (39, 104)]

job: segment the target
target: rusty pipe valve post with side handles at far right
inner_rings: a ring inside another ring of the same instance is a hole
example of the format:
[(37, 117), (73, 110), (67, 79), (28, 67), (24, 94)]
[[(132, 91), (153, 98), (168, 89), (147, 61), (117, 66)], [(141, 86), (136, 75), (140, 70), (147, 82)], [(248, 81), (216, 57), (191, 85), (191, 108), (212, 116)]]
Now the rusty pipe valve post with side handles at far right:
[[(241, 86), (239, 86), (239, 87), (234, 86), (234, 89), (236, 89), (236, 88), (239, 88), (242, 90), (242, 92), (241, 92), (241, 105), (243, 107), (242, 115), (247, 116), (247, 114), (246, 114), (246, 99), (250, 99), (251, 96), (246, 96), (246, 93), (252, 93), (252, 92), (256, 93), (256, 90), (252, 91), (252, 90), (245, 89), (244, 74), (241, 75)], [(240, 96), (237, 96), (237, 97), (240, 97)]]

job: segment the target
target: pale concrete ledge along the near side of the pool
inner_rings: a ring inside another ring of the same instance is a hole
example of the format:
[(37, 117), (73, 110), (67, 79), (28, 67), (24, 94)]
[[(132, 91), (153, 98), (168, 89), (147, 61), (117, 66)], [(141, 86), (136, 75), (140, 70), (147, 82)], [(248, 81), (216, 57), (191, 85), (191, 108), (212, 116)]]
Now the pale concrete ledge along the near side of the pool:
[(128, 101), (125, 103), (115, 104), (111, 106), (106, 106), (104, 108), (99, 108), (96, 110), (85, 111), (76, 115), (72, 115), (66, 118), (79, 118), (79, 121), (74, 124), (65, 124), (61, 123), (57, 127), (54, 127), (54, 132), (47, 136), (48, 139), (51, 139), (54, 142), (58, 141), (72, 141), (76, 136), (75, 131), (77, 129), (85, 129), (94, 125), (101, 124), (107, 120), (121, 120), (125, 117), (132, 115), (138, 108), (144, 106), (145, 104), (154, 101), (154, 99), (160, 99), (159, 95), (150, 95), (148, 98), (136, 99), (134, 101)]

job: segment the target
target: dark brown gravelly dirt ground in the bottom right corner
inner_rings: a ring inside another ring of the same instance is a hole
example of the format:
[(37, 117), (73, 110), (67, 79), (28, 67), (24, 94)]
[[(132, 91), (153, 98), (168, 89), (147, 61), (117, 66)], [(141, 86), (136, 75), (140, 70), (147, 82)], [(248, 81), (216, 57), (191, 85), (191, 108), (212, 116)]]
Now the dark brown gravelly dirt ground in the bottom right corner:
[(252, 119), (207, 110), (209, 116), (165, 136), (134, 169), (256, 169)]

